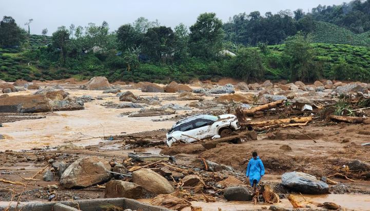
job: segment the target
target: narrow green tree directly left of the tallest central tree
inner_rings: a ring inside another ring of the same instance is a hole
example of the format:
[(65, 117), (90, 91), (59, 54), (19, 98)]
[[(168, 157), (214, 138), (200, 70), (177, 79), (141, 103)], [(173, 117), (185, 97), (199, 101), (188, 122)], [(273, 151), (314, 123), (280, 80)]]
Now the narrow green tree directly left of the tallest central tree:
[(177, 60), (184, 60), (189, 54), (189, 31), (180, 23), (174, 28), (174, 56)]

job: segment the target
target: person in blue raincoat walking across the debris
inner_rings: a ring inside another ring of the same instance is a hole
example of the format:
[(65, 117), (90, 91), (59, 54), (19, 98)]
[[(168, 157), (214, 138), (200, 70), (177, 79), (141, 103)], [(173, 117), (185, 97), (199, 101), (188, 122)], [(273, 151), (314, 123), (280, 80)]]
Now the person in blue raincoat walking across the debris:
[(252, 159), (249, 160), (246, 176), (249, 178), (249, 184), (253, 187), (253, 191), (256, 191), (256, 187), (261, 180), (261, 177), (265, 175), (265, 167), (257, 155), (257, 151), (252, 152)]

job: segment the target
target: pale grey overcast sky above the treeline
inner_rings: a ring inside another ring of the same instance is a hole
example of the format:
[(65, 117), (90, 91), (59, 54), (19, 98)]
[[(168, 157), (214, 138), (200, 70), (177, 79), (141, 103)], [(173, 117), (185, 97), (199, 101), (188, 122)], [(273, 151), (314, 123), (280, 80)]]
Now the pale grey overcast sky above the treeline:
[(321, 5), (341, 4), (343, 0), (0, 0), (0, 15), (12, 16), (23, 28), (33, 18), (31, 34), (41, 34), (48, 28), (51, 35), (59, 26), (87, 26), (88, 23), (108, 22), (112, 30), (132, 23), (140, 16), (149, 21), (158, 19), (161, 25), (174, 27), (179, 23), (191, 26), (203, 12), (216, 12), (224, 22), (235, 14), (260, 11), (276, 13), (298, 8), (307, 12)]

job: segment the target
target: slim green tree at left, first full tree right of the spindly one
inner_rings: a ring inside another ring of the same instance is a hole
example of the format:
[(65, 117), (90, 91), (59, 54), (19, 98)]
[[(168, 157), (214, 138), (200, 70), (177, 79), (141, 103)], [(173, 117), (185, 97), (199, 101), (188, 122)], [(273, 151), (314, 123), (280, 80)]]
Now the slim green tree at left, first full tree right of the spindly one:
[(69, 44), (69, 30), (65, 26), (58, 27), (58, 29), (52, 35), (52, 42), (54, 48), (60, 50), (61, 64), (64, 65), (66, 62), (67, 47)]

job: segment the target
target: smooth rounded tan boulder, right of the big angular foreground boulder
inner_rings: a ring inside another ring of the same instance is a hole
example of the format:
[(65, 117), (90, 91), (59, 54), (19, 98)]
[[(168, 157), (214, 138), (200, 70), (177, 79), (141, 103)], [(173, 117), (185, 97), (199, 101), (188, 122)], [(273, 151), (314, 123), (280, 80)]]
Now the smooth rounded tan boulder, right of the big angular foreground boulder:
[(132, 173), (132, 181), (153, 194), (171, 194), (174, 189), (166, 178), (151, 169), (140, 169)]

